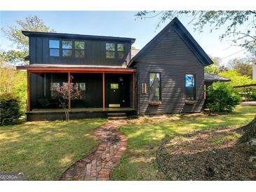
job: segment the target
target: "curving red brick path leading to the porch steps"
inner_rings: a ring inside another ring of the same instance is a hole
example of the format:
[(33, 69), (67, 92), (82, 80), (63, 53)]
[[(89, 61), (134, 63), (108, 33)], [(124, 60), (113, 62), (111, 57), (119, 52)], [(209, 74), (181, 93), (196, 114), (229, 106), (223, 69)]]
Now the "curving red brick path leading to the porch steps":
[(109, 121), (95, 130), (100, 146), (89, 156), (69, 167), (60, 180), (105, 181), (126, 150), (127, 139), (117, 130), (126, 121)]

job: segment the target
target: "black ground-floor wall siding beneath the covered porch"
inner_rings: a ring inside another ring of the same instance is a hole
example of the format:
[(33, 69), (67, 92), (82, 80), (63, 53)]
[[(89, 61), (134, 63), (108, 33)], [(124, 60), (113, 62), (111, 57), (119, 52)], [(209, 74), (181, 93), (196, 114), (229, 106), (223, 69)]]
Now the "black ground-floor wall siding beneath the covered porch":
[[(72, 100), (72, 108), (102, 107), (102, 74), (72, 74), (72, 83), (86, 83), (86, 91), (81, 100)], [(105, 106), (109, 107), (110, 83), (119, 83), (121, 107), (130, 106), (130, 74), (105, 74)], [(46, 78), (44, 78), (46, 77)], [(119, 78), (123, 81), (119, 81)], [(44, 84), (44, 82), (46, 84)], [(47, 99), (58, 103), (58, 100), (50, 98), (50, 82), (67, 82), (67, 73), (42, 73), (30, 74), (30, 106), (31, 109), (43, 108), (38, 100)], [(44, 88), (46, 91), (44, 91)], [(58, 108), (58, 104), (45, 108)]]

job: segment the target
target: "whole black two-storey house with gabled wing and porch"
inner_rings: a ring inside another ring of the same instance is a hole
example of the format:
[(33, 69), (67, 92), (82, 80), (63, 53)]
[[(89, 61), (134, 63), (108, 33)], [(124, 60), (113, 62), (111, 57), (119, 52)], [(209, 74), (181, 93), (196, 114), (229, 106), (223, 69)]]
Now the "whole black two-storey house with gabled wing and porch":
[(70, 75), (83, 92), (69, 100), (71, 118), (203, 108), (204, 67), (213, 62), (177, 18), (137, 54), (131, 38), (22, 33), (29, 36), (29, 65), (17, 69), (28, 74), (29, 121), (65, 117), (55, 87), (71, 83)]

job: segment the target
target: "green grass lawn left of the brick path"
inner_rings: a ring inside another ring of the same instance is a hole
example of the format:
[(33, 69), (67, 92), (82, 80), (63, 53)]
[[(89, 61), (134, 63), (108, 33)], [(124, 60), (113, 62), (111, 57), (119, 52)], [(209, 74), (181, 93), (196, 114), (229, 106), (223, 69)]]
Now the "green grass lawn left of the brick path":
[(0, 171), (29, 180), (58, 180), (97, 146), (93, 130), (107, 120), (41, 121), (0, 127)]

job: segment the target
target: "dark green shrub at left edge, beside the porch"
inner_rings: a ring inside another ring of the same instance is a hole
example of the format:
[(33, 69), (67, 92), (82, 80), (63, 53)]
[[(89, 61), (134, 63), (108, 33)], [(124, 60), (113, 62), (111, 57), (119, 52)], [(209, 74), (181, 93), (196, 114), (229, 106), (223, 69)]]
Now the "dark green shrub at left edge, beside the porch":
[(0, 94), (0, 125), (18, 123), (21, 116), (20, 100), (11, 93)]

